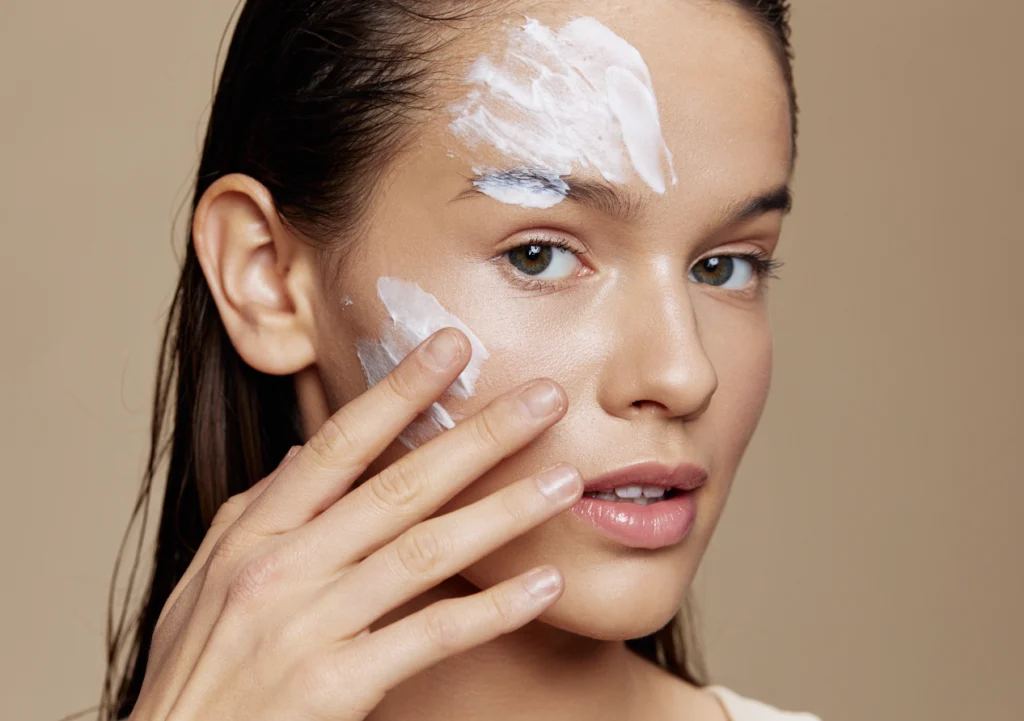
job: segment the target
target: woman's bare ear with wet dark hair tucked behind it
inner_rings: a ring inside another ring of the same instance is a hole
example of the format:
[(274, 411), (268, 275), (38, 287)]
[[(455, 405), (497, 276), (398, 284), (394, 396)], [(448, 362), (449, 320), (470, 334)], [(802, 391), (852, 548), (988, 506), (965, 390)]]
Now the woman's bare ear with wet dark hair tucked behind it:
[(193, 243), (239, 355), (272, 375), (312, 365), (315, 251), (281, 222), (269, 190), (218, 178), (196, 207)]

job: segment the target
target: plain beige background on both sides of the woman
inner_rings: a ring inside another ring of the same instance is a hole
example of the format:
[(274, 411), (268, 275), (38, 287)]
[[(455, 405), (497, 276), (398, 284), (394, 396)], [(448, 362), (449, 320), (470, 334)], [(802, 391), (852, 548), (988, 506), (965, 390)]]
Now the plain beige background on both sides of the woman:
[[(0, 718), (95, 703), (233, 0), (0, 5)], [(825, 721), (1020, 719), (1017, 0), (797, 0), (772, 397), (699, 578), (716, 680)]]

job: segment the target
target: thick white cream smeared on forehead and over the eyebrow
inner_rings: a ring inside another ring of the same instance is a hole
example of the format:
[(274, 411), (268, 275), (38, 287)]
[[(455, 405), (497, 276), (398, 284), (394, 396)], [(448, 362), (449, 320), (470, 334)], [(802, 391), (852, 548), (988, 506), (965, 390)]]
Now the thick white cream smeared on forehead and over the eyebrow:
[[(527, 17), (511, 31), (501, 61), (478, 58), (467, 82), (474, 87), (452, 107), (450, 129), (470, 151), (495, 149), (559, 180), (593, 168), (622, 183), (632, 166), (656, 193), (678, 182), (647, 65), (593, 17), (557, 32)], [(548, 183), (516, 183), (514, 175), (495, 180), (501, 171), (473, 172), (483, 176), (480, 192), (525, 207), (551, 207), (568, 188), (559, 194)]]

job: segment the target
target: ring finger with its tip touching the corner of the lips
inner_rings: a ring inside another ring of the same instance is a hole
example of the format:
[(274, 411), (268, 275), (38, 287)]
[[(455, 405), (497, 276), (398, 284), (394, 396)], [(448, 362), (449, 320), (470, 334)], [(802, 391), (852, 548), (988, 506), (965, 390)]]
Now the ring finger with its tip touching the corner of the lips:
[(579, 471), (559, 464), (419, 523), (328, 586), (316, 618), (327, 633), (354, 634), (566, 510), (582, 494)]

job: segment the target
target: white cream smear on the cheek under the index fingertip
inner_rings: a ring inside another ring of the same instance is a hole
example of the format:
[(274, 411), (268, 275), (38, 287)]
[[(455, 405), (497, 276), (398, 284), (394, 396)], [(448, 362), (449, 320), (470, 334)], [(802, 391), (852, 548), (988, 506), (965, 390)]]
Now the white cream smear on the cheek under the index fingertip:
[[(383, 277), (377, 280), (377, 295), (391, 321), (385, 322), (379, 342), (359, 339), (355, 343), (367, 384), (376, 385), (417, 345), (440, 329), (454, 327), (466, 334), (472, 355), (447, 393), (458, 398), (471, 396), (480, 377), (480, 367), (490, 354), (469, 326), (445, 310), (434, 296), (415, 283)], [(416, 449), (446, 428), (454, 427), (452, 416), (439, 402), (435, 402), (413, 421), (398, 439), (407, 448)]]

